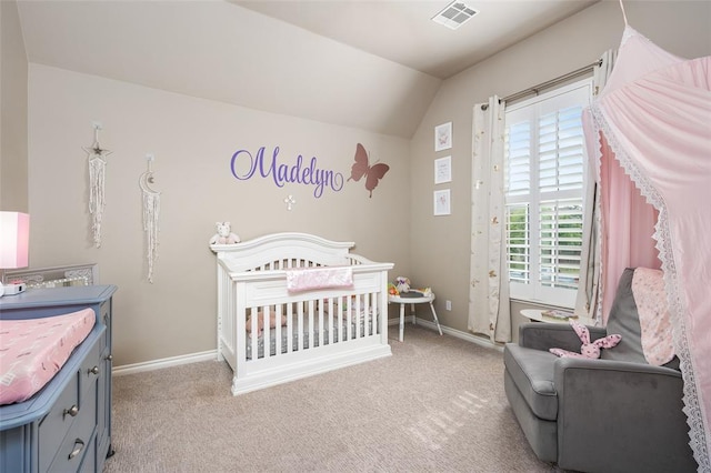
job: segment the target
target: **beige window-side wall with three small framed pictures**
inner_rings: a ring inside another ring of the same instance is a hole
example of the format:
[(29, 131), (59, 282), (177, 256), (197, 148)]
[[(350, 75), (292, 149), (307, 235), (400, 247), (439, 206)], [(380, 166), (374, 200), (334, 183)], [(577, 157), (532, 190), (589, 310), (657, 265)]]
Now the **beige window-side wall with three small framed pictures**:
[[(711, 53), (711, 2), (625, 1), (630, 24), (671, 52)], [(617, 1), (603, 1), (444, 81), (411, 143), (411, 279), (431, 283), (443, 324), (467, 331), (469, 305), (472, 108), (595, 61), (620, 43), (624, 22)], [(453, 148), (434, 152), (433, 128), (453, 123)], [(433, 184), (433, 160), (452, 155), (451, 184)], [(432, 217), (432, 191), (451, 188), (451, 217)], [(452, 301), (452, 311), (444, 301)], [(484, 310), (482, 301), (475, 301)], [(520, 305), (512, 308), (514, 330)]]

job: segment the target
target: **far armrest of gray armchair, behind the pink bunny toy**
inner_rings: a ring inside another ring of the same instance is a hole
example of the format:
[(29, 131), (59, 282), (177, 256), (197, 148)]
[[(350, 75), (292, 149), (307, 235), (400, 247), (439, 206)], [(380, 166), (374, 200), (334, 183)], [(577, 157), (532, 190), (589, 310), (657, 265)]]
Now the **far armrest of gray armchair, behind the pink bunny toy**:
[[(608, 334), (601, 326), (590, 326), (590, 340)], [(534, 350), (563, 349), (580, 351), (582, 343), (575, 331), (567, 323), (523, 323), (519, 326), (519, 345)]]

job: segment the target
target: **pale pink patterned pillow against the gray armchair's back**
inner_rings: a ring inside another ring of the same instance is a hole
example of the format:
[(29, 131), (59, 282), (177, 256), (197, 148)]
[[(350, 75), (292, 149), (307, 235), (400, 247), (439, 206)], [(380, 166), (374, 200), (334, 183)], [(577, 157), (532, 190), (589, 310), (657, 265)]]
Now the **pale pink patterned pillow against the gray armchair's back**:
[(661, 366), (674, 358), (663, 273), (637, 268), (632, 276), (632, 293), (640, 315), (644, 358), (649, 364)]

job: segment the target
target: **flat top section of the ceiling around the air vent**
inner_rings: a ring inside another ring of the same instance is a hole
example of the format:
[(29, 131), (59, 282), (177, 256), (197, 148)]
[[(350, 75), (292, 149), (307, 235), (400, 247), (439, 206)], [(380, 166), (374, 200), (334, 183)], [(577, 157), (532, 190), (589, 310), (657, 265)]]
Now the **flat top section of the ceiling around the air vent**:
[(230, 0), (399, 64), (447, 79), (599, 0), (463, 0), (455, 31), (431, 21), (451, 0)]

